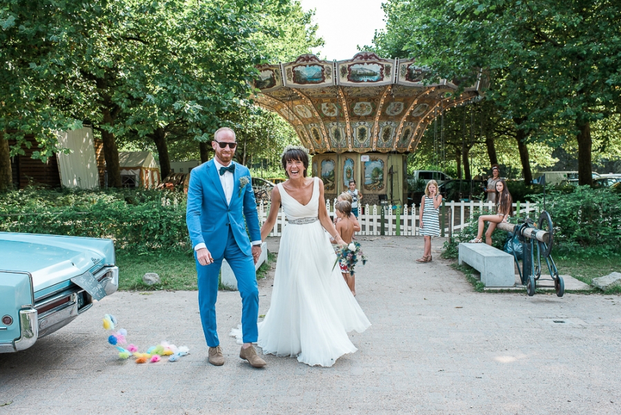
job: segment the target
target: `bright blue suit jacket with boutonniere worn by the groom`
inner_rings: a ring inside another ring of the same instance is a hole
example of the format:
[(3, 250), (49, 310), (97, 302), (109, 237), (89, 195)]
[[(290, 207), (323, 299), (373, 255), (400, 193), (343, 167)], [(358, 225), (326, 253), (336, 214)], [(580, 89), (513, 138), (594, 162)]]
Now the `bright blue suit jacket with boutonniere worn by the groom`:
[[(230, 198), (230, 205), (226, 204), (224, 189), (213, 160), (193, 168), (190, 173), (186, 211), (190, 240), (193, 247), (204, 242), (213, 258), (221, 258), (224, 255), (229, 227), (233, 231), (239, 249), (246, 255), (252, 253), (246, 225), (250, 238), (261, 240), (257, 202), (250, 171), (242, 164), (233, 163), (235, 173), (233, 173), (233, 195)], [(240, 189), (239, 178), (244, 176), (248, 177), (248, 184)]]

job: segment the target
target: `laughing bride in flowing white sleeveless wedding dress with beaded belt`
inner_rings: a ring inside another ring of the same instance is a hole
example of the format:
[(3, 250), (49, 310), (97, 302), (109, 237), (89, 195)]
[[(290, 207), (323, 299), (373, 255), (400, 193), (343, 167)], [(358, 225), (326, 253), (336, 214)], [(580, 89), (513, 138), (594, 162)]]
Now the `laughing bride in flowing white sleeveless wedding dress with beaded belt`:
[(282, 231), (272, 300), (265, 319), (259, 322), (257, 345), (264, 354), (297, 356), (307, 365), (332, 366), (340, 356), (357, 350), (348, 331), (362, 333), (371, 323), (339, 267), (334, 267), (336, 254), (330, 238), (344, 242), (328, 216), (322, 180), (306, 177), (306, 149), (288, 147), (282, 163), (288, 180), (272, 191), (262, 240), (272, 231), (281, 203), (288, 224)]

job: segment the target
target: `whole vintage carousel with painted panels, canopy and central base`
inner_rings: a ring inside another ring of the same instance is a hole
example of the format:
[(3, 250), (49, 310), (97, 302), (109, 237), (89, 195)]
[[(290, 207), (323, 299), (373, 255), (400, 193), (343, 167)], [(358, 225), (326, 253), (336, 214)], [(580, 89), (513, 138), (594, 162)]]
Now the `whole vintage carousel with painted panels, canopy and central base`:
[(415, 61), (360, 52), (346, 61), (302, 55), (293, 62), (259, 67), (255, 96), (297, 131), (313, 155), (314, 176), (326, 198), (351, 179), (365, 204), (407, 200), (406, 156), (444, 110), (479, 99), (481, 81), (459, 89), (457, 81), (426, 84)]

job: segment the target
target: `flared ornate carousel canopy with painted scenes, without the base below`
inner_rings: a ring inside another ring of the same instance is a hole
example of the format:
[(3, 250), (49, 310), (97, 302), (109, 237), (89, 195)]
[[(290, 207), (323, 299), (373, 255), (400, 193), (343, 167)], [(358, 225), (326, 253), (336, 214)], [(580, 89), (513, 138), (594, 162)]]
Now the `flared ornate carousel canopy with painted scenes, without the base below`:
[(481, 81), (426, 84), (415, 61), (360, 52), (351, 60), (302, 55), (259, 67), (255, 102), (284, 117), (311, 153), (413, 151), (442, 111), (480, 95)]

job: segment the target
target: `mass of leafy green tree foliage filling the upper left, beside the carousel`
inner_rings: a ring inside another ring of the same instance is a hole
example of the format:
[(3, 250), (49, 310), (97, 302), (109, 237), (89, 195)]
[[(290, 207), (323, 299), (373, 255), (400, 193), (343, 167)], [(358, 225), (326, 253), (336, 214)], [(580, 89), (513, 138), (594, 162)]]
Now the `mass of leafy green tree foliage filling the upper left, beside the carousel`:
[(34, 133), (45, 158), (57, 151), (52, 131), (88, 119), (110, 186), (121, 184), (119, 137), (151, 139), (165, 174), (171, 134), (206, 153), (253, 92), (256, 64), (320, 44), (311, 17), (296, 0), (10, 0), (0, 8), (0, 131)]

